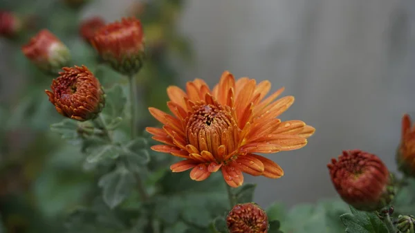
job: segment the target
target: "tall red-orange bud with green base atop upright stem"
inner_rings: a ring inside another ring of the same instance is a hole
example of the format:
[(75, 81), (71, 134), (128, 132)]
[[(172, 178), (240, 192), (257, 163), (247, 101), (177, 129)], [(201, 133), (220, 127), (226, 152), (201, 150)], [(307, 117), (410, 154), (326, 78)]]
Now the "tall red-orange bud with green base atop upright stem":
[(142, 26), (138, 19), (122, 19), (95, 32), (91, 41), (105, 62), (124, 75), (140, 71), (144, 56)]

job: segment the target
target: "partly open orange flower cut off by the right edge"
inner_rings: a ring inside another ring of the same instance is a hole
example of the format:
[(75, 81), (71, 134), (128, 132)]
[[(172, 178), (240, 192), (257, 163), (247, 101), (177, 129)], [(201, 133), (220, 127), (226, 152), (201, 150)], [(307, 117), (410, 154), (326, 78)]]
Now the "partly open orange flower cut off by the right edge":
[(415, 177), (415, 125), (411, 126), (411, 118), (407, 114), (402, 118), (401, 133), (396, 155), (398, 167), (407, 176)]

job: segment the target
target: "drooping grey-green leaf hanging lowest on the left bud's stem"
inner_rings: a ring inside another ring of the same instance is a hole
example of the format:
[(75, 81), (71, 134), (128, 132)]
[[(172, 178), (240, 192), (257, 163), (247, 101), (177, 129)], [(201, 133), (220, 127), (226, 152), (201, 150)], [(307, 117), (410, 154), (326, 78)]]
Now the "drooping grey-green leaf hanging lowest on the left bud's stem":
[(102, 188), (102, 198), (111, 209), (120, 205), (131, 194), (135, 184), (134, 175), (123, 165), (102, 176), (98, 182)]

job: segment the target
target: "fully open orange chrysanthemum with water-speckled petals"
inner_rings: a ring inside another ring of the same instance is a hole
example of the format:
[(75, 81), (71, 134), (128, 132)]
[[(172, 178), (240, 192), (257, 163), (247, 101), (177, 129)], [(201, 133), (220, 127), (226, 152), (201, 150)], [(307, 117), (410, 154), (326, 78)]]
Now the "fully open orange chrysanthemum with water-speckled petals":
[(315, 129), (300, 120), (277, 119), (293, 104), (294, 97), (275, 100), (284, 91), (281, 88), (264, 98), (270, 87), (269, 81), (257, 84), (248, 77), (235, 81), (228, 71), (212, 91), (200, 79), (187, 82), (186, 92), (169, 86), (167, 106), (174, 116), (149, 108), (164, 126), (147, 131), (165, 144), (151, 149), (185, 158), (170, 169), (192, 169), (193, 180), (205, 180), (219, 169), (231, 187), (243, 184), (242, 172), (268, 178), (283, 176), (279, 165), (255, 153), (299, 149)]

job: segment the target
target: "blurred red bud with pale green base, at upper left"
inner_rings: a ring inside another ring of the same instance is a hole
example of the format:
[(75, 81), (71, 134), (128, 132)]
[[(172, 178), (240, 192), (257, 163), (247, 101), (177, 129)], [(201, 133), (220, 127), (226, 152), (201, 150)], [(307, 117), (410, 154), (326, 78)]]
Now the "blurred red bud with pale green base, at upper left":
[(21, 50), (42, 71), (54, 75), (71, 61), (68, 48), (46, 29), (37, 33)]

